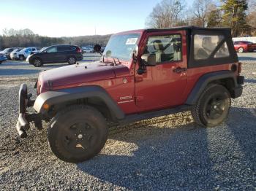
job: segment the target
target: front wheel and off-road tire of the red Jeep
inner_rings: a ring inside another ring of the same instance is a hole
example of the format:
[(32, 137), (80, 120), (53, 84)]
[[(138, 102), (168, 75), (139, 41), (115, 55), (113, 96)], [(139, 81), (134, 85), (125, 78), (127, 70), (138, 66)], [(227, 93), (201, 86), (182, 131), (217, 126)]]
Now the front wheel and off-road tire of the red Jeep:
[[(84, 124), (83, 122), (87, 125), (79, 125)], [(80, 135), (83, 138), (79, 138)], [(69, 163), (80, 163), (94, 157), (104, 147), (107, 139), (107, 122), (91, 106), (69, 106), (57, 113), (48, 127), (50, 149), (60, 160)]]

